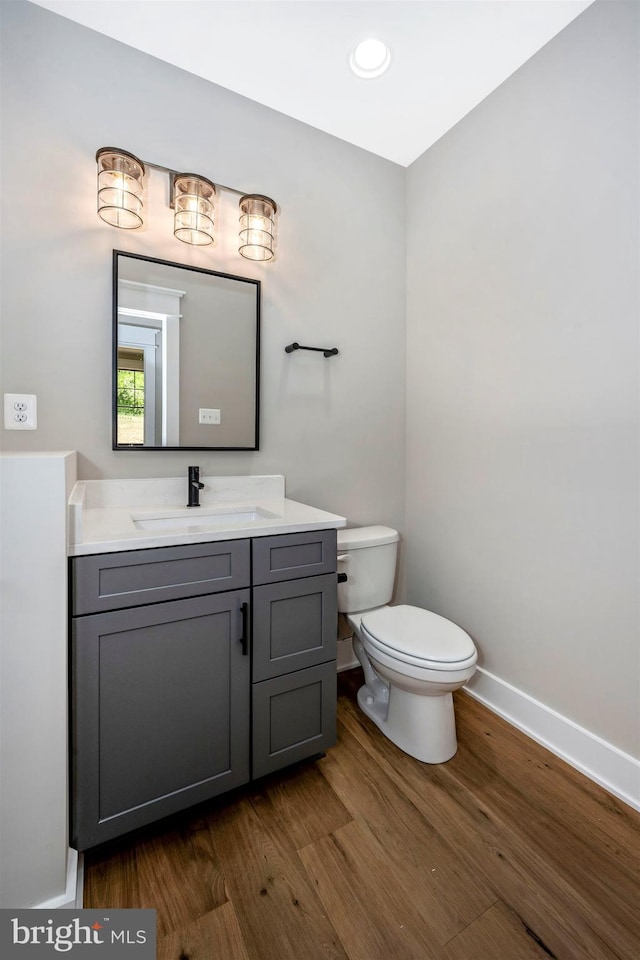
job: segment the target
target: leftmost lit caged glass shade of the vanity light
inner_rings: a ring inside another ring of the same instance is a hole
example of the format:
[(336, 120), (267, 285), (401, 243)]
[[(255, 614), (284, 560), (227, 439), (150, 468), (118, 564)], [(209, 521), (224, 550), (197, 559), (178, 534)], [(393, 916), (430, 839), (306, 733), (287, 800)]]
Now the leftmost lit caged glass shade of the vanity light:
[(98, 216), (112, 227), (142, 226), (144, 163), (117, 147), (101, 147), (98, 164)]

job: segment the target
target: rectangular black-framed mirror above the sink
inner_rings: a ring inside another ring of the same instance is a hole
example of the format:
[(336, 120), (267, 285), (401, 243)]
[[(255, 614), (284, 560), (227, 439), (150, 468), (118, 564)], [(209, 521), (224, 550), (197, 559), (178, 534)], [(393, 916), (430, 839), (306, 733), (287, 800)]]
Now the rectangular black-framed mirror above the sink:
[(257, 450), (260, 281), (113, 251), (113, 449)]

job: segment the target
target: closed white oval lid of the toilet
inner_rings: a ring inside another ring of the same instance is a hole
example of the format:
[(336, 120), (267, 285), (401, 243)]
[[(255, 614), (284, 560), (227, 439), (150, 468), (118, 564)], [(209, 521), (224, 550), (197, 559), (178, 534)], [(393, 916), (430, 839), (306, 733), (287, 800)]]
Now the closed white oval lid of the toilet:
[(362, 618), (362, 626), (378, 645), (415, 660), (459, 663), (476, 652), (462, 627), (421, 607), (380, 607)]

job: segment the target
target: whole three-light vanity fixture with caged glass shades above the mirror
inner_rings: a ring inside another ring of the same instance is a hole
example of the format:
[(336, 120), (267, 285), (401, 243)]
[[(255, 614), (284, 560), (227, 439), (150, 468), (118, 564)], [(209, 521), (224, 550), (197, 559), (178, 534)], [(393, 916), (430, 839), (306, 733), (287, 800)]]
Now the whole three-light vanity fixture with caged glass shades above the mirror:
[(176, 173), (169, 167), (138, 160), (127, 150), (101, 147), (98, 164), (98, 215), (105, 223), (123, 230), (141, 227), (142, 191), (147, 168), (166, 173), (170, 179), (170, 202), (174, 210), (173, 233), (184, 243), (213, 243), (214, 200), (219, 191), (240, 194), (240, 245), (247, 260), (273, 259), (273, 233), (277, 206), (270, 197), (244, 193), (234, 187), (214, 184), (197, 173)]

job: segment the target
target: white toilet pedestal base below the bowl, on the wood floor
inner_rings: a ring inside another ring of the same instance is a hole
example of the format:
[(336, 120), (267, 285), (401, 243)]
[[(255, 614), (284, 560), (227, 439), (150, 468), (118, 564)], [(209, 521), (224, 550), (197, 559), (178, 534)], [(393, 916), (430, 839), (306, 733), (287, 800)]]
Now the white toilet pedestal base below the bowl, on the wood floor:
[(364, 684), (358, 706), (385, 737), (422, 763), (445, 763), (458, 749), (451, 693), (422, 696), (388, 687), (388, 700)]

